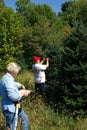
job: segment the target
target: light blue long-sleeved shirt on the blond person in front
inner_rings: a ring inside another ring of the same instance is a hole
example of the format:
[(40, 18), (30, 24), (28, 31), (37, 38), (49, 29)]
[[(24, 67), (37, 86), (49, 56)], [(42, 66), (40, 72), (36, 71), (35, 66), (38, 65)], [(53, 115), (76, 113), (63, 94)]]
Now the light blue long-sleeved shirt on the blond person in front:
[(21, 84), (14, 81), (11, 74), (6, 73), (0, 81), (0, 95), (2, 96), (2, 111), (8, 110), (15, 113), (15, 103), (21, 99), (19, 88)]

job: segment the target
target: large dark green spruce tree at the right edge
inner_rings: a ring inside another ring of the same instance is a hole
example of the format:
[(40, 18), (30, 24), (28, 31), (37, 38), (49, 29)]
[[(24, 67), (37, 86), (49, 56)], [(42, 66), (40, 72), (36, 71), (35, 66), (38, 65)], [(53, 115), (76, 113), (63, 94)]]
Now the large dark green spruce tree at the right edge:
[(64, 102), (75, 114), (87, 114), (87, 26), (80, 23), (64, 41), (61, 85)]

